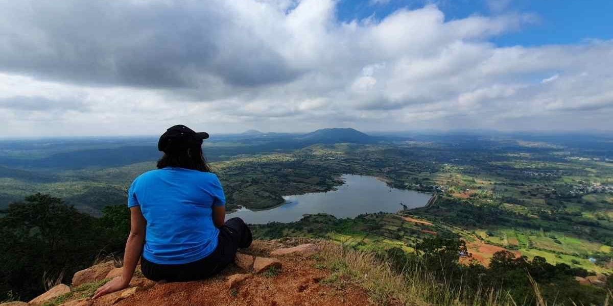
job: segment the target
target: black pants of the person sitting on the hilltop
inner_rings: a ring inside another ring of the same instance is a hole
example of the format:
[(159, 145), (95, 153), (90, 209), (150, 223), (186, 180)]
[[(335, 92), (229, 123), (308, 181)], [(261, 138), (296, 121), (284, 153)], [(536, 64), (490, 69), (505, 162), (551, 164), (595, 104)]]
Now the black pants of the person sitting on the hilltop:
[(186, 264), (156, 264), (140, 259), (140, 269), (145, 277), (158, 282), (190, 282), (217, 274), (227, 264), (234, 262), (238, 248), (251, 245), (251, 230), (241, 218), (231, 218), (219, 228), (215, 251), (205, 258)]

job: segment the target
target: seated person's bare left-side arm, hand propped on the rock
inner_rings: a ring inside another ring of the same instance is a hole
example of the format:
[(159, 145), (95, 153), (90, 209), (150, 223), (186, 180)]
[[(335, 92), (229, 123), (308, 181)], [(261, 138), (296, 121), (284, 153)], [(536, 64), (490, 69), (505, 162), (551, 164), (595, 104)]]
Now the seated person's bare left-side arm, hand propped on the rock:
[(104, 286), (98, 288), (93, 296), (96, 299), (104, 294), (119, 291), (124, 288), (128, 288), (132, 275), (136, 265), (139, 263), (140, 254), (143, 250), (143, 244), (145, 244), (145, 218), (142, 212), (140, 212), (140, 206), (133, 206), (130, 208), (130, 234), (128, 241), (126, 242), (126, 251), (123, 255), (123, 271), (120, 277), (115, 277)]

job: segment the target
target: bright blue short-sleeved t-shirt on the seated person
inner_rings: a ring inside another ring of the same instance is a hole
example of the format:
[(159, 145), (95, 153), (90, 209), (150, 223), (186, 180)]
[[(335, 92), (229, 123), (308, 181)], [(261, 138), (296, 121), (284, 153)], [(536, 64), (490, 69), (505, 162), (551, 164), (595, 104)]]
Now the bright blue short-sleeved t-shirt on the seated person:
[(137, 177), (128, 190), (128, 207), (140, 205), (147, 220), (143, 257), (158, 264), (185, 264), (217, 247), (213, 206), (226, 204), (213, 173), (166, 167)]

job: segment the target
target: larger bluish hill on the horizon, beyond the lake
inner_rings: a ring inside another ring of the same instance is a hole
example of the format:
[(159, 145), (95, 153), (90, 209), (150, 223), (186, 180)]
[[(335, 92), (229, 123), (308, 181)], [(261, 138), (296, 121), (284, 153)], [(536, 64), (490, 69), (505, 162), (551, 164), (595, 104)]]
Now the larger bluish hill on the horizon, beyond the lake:
[(355, 129), (321, 129), (316, 130), (311, 133), (307, 133), (305, 135), (301, 135), (296, 137), (296, 140), (299, 140), (302, 143), (323, 143), (323, 144), (334, 144), (334, 143), (375, 143), (376, 138), (365, 133), (360, 132)]

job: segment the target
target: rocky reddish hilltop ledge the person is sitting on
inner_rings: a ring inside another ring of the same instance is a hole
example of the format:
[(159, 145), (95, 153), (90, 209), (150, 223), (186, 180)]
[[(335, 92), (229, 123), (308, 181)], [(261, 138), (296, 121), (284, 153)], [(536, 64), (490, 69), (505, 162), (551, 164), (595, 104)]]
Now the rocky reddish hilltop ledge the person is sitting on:
[[(298, 245), (299, 242), (311, 242)], [(298, 246), (297, 246), (298, 245)], [(72, 287), (56, 285), (17, 305), (367, 305), (371, 294), (355, 282), (338, 278), (318, 253), (330, 252), (317, 240), (254, 241), (220, 275), (185, 283), (155, 283), (139, 268), (129, 288), (90, 299), (96, 288), (121, 274), (112, 261), (77, 272)], [(314, 255), (314, 256), (313, 256)], [(238, 259), (240, 258), (240, 259)], [(254, 261), (255, 259), (255, 261)], [(4, 305), (4, 304), (2, 304)]]

